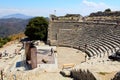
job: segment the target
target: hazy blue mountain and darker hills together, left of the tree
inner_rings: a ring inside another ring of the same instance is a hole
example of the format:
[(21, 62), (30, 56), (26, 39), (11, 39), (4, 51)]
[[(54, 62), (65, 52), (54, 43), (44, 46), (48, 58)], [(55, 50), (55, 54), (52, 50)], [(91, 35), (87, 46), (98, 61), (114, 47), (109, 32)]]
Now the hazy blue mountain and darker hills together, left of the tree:
[[(24, 32), (32, 16), (24, 14), (11, 14), (0, 18), (0, 37), (6, 37), (19, 32)], [(49, 21), (49, 18), (46, 17)]]

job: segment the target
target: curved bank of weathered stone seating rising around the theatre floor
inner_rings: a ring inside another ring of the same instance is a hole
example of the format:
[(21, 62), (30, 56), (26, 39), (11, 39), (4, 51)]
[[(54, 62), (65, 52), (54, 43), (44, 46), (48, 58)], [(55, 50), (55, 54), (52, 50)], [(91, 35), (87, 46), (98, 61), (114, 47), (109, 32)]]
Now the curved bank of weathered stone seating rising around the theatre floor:
[[(73, 24), (80, 25), (75, 27)], [(78, 48), (89, 57), (108, 56), (120, 49), (120, 25), (75, 22), (55, 25), (53, 39), (57, 36), (58, 45)]]

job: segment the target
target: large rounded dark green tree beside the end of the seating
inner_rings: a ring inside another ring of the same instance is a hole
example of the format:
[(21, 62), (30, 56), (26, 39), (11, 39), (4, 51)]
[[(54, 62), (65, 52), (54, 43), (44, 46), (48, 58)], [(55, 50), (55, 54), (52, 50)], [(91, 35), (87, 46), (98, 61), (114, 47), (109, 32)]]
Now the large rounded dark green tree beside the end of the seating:
[(25, 30), (30, 40), (47, 40), (48, 21), (43, 17), (32, 18)]

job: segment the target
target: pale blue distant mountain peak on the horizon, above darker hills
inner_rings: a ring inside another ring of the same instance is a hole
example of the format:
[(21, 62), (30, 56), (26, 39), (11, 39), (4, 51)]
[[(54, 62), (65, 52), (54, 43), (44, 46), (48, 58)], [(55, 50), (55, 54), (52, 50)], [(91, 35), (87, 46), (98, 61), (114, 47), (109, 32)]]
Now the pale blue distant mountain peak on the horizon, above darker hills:
[(11, 15), (7, 15), (7, 16), (3, 16), (2, 19), (8, 19), (8, 18), (20, 18), (20, 19), (30, 19), (32, 18), (33, 16), (27, 16), (27, 15), (24, 15), (24, 14), (20, 14), (20, 13), (17, 13), (17, 14), (11, 14)]

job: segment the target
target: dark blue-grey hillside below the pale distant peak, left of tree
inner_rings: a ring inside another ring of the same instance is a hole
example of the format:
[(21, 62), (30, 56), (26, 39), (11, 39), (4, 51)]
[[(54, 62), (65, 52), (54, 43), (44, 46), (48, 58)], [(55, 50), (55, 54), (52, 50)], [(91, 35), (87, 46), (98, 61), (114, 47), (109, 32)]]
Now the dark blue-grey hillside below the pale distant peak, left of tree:
[(0, 37), (23, 32), (29, 19), (8, 18), (0, 19)]

